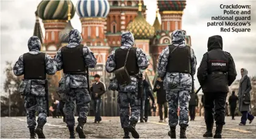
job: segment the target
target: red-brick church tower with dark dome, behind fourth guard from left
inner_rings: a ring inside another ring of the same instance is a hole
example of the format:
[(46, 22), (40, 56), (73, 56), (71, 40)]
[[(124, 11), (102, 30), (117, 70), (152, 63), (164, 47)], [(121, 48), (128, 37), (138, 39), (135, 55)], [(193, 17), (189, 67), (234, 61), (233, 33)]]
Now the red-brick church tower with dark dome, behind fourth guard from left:
[[(150, 39), (150, 54), (153, 58), (155, 71), (159, 55), (165, 47), (171, 44), (171, 33), (182, 29), (182, 15), (185, 5), (186, 1), (157, 1), (161, 24), (156, 16), (154, 21), (156, 33)], [(185, 44), (191, 46), (190, 36), (185, 36)]]

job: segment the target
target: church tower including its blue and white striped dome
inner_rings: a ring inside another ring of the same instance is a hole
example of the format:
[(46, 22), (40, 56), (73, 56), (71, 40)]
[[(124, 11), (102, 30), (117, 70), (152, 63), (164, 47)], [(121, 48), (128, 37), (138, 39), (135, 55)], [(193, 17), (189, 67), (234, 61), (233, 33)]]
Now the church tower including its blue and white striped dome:
[(108, 42), (104, 33), (109, 3), (107, 0), (78, 1), (76, 11), (82, 25), (82, 43), (88, 46), (97, 58), (97, 66), (90, 69), (90, 74), (94, 76), (97, 73), (104, 76), (103, 71), (109, 55)]

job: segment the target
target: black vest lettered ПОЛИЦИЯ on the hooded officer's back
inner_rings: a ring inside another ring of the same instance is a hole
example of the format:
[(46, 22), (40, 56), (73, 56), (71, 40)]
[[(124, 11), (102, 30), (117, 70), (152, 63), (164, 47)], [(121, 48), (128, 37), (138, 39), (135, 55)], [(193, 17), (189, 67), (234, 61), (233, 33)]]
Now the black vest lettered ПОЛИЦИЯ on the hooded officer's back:
[(223, 73), (227, 73), (228, 70), (228, 62), (229, 62), (229, 55), (221, 50), (211, 50), (207, 52), (208, 55), (208, 74), (211, 74), (215, 71), (221, 71)]

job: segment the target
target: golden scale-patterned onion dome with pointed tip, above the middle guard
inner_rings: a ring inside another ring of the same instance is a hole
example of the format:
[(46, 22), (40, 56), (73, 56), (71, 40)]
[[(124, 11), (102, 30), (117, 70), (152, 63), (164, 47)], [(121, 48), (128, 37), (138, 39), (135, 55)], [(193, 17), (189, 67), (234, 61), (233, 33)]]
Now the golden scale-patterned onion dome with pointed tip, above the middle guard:
[(154, 27), (148, 24), (141, 11), (138, 12), (137, 17), (128, 24), (126, 29), (133, 33), (135, 39), (150, 39), (154, 35)]

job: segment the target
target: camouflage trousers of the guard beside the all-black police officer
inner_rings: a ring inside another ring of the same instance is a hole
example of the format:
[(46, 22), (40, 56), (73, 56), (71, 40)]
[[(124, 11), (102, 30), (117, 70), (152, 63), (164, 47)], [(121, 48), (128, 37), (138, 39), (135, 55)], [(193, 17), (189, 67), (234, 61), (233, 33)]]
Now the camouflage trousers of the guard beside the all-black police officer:
[[(190, 91), (166, 91), (166, 100), (169, 107), (169, 126), (189, 125)], [(179, 103), (179, 117), (178, 117)]]

